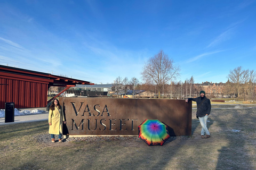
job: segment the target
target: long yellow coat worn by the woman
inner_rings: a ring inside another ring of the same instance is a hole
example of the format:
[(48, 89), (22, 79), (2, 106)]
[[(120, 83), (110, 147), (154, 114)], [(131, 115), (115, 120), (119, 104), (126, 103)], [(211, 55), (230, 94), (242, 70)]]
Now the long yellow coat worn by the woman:
[(49, 123), (52, 123), (52, 125), (49, 125), (49, 134), (62, 133), (63, 121), (65, 121), (65, 117), (64, 117), (61, 107), (58, 110), (58, 108), (55, 106), (54, 111), (52, 111), (50, 109), (49, 110)]

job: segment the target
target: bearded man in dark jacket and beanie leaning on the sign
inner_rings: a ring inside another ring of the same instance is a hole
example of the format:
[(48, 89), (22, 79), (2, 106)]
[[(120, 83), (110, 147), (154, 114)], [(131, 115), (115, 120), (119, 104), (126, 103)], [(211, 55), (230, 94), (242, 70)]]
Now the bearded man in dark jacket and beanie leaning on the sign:
[[(188, 99), (186, 99), (186, 102), (188, 103), (188, 101), (190, 101), (190, 100), (196, 101), (196, 105), (197, 105), (196, 117), (198, 117), (199, 122), (202, 126), (201, 138), (203, 138), (203, 139), (210, 138), (211, 137), (210, 132), (206, 127), (207, 118), (211, 112), (210, 99), (207, 99), (205, 97), (204, 91), (200, 91), (200, 97), (188, 98)], [(206, 135), (204, 135), (204, 133), (206, 133)]]

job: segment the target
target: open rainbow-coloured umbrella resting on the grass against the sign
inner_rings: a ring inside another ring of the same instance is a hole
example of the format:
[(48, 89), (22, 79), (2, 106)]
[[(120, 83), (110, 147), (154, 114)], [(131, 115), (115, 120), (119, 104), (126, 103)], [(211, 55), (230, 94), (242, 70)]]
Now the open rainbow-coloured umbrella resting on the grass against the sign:
[(145, 120), (139, 126), (139, 138), (148, 146), (163, 145), (170, 138), (167, 126), (158, 120)]

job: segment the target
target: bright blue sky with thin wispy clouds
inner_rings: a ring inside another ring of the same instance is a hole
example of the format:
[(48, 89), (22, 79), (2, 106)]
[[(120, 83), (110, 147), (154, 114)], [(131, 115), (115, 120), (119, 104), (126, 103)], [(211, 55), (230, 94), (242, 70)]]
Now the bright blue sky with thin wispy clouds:
[(255, 70), (256, 1), (3, 1), (0, 64), (93, 83), (141, 80), (159, 50), (177, 81)]

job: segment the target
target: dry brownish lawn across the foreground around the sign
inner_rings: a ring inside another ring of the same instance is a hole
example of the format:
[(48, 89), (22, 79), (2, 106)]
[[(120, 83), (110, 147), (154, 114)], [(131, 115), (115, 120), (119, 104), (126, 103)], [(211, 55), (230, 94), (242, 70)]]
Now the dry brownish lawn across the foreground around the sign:
[[(213, 109), (201, 139), (193, 109), (192, 135), (163, 146), (138, 141), (43, 143), (47, 122), (1, 126), (0, 169), (256, 169), (255, 109)], [(237, 130), (237, 131), (236, 131)]]

